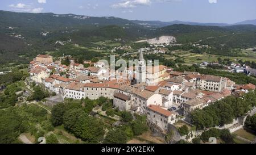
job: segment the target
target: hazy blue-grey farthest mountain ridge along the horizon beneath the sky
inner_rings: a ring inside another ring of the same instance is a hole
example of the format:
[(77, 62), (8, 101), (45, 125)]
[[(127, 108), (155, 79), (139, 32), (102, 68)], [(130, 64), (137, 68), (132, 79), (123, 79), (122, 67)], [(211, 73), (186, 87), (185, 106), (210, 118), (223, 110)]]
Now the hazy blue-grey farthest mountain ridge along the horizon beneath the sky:
[[(252, 24), (256, 26), (256, 19), (253, 20), (245, 20), (242, 22), (234, 23), (234, 24), (228, 24), (228, 23), (200, 23), (200, 22), (184, 22), (180, 20), (174, 20), (171, 22), (162, 22), (159, 20), (128, 20), (128, 19), (123, 19), (123, 18), (117, 18), (114, 16), (87, 16), (87, 15), (76, 15), (76, 14), (54, 14), (51, 12), (47, 13), (39, 13), (39, 14), (32, 14), (32, 13), (23, 13), (23, 12), (11, 12), (11, 11), (2, 11), (0, 10), (0, 15), (3, 16), (3, 14), (11, 14), (13, 16), (19, 16), (19, 14), (22, 15), (27, 15), (29, 16), (36, 16), (36, 18), (42, 17), (42, 16), (48, 16), (51, 17), (49, 18), (49, 21), (53, 20), (61, 20), (57, 19), (57, 17), (60, 18), (66, 18), (69, 19), (69, 23), (64, 22), (62, 24), (70, 24), (70, 23), (76, 23), (76, 24), (102, 24), (102, 25), (110, 25), (114, 24), (117, 26), (142, 26), (142, 27), (148, 27), (148, 28), (159, 28), (159, 27), (166, 27), (166, 26), (171, 26), (174, 24), (185, 24), (185, 25), (191, 25), (191, 26), (234, 26), (234, 25), (247, 25), (247, 24)], [(0, 19), (1, 19), (0, 16)], [(22, 20), (22, 18), (20, 19)], [(72, 21), (71, 21), (72, 20)], [(39, 20), (40, 21), (40, 20)], [(47, 22), (49, 22), (47, 21)], [(43, 20), (42, 20), (43, 22)]]

